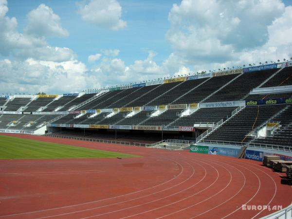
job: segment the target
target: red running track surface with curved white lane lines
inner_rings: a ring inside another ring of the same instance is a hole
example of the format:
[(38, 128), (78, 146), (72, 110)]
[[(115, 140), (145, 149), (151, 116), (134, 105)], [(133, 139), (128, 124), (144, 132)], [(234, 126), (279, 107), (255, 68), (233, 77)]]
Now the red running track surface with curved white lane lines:
[(0, 160), (0, 219), (260, 218), (242, 204), (292, 202), (292, 187), (259, 162), (223, 156), (14, 135), (143, 156)]

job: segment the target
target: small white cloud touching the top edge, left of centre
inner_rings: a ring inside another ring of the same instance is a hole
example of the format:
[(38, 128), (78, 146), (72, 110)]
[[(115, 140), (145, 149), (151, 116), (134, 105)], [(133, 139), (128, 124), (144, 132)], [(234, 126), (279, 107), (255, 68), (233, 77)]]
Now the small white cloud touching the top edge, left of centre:
[(83, 20), (113, 31), (127, 26), (127, 22), (121, 19), (122, 7), (117, 0), (90, 0), (88, 4), (80, 5), (79, 13)]

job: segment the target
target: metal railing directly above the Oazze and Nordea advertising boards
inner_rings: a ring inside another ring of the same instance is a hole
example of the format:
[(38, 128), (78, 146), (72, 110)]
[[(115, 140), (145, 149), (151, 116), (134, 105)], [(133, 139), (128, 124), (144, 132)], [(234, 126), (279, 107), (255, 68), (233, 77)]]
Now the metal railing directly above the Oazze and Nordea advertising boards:
[(262, 149), (270, 149), (270, 150), (273, 149), (273, 150), (292, 152), (292, 146), (279, 146), (279, 145), (269, 145), (269, 144), (229, 142), (229, 141), (216, 141), (216, 140), (201, 140), (200, 143), (230, 145), (230, 146), (248, 146), (248, 147), (255, 147), (255, 148), (262, 148)]

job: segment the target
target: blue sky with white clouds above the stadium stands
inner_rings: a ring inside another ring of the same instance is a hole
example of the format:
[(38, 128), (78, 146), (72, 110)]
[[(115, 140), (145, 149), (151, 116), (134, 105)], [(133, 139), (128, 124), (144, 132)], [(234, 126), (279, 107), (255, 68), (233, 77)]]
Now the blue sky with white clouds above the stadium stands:
[(0, 0), (0, 94), (283, 61), (291, 36), (292, 0)]

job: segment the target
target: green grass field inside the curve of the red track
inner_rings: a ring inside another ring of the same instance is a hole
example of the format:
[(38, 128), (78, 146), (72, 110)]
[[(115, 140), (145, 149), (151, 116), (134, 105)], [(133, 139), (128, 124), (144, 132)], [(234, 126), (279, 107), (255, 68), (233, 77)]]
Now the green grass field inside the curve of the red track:
[(60, 145), (0, 135), (0, 159), (110, 158), (138, 157), (90, 148)]

